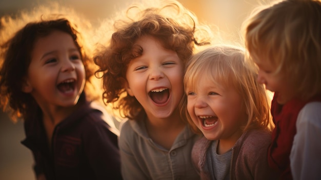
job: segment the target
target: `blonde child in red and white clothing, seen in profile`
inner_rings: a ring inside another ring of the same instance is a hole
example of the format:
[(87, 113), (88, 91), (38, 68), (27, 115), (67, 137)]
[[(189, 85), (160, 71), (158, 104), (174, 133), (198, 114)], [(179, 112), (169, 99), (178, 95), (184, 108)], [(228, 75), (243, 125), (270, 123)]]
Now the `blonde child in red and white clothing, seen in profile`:
[(320, 179), (321, 2), (278, 1), (244, 27), (258, 82), (274, 92), (269, 165), (279, 179)]

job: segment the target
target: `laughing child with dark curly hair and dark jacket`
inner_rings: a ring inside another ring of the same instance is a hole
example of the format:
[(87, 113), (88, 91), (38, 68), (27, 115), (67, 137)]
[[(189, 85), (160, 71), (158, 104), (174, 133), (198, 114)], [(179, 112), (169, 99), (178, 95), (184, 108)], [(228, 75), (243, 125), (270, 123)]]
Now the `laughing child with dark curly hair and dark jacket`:
[(101, 94), (92, 91), (85, 34), (76, 14), (41, 13), (53, 8), (1, 18), (1, 106), (24, 121), (36, 179), (122, 179), (112, 117), (94, 101)]

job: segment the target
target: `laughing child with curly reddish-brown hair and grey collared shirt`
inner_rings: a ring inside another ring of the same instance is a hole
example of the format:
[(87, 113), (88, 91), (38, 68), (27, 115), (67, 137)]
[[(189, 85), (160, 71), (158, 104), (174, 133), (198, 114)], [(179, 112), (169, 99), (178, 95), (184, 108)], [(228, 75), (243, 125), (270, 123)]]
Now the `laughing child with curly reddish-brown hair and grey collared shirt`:
[(204, 39), (202, 26), (176, 1), (131, 6), (127, 16), (115, 22), (110, 43), (94, 59), (97, 74), (104, 73), (106, 102), (129, 119), (119, 137), (123, 177), (198, 179), (190, 156), (198, 136), (178, 104), (185, 62)]

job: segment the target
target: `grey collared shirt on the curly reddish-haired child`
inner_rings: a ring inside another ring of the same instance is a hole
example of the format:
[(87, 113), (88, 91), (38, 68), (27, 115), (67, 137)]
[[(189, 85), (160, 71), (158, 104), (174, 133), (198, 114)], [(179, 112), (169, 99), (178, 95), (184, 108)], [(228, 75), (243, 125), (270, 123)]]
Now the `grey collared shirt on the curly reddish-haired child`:
[(118, 142), (123, 178), (199, 179), (191, 160), (198, 137), (186, 126), (167, 150), (149, 137), (144, 121), (125, 121)]

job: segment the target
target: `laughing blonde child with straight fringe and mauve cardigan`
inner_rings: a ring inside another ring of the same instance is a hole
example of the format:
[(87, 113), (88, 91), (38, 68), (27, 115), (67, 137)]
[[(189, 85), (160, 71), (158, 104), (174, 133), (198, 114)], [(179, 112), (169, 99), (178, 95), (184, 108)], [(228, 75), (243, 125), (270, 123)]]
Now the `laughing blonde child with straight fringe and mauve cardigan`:
[(256, 77), (238, 47), (210, 47), (187, 63), (183, 110), (204, 135), (192, 150), (201, 179), (273, 177), (267, 162), (269, 103)]

